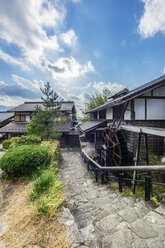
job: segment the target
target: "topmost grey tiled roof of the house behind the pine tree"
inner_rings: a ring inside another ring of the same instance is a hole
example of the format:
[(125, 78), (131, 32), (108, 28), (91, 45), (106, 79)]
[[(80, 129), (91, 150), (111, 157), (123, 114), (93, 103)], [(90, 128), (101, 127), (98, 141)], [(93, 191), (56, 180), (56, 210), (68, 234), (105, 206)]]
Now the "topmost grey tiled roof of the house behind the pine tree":
[[(43, 108), (43, 102), (24, 102), (23, 104), (16, 106), (10, 110), (9, 112), (34, 112), (35, 108), (37, 106), (40, 106)], [(72, 111), (72, 108), (74, 106), (74, 102), (69, 101), (69, 102), (61, 102), (61, 108), (60, 110), (63, 111)]]

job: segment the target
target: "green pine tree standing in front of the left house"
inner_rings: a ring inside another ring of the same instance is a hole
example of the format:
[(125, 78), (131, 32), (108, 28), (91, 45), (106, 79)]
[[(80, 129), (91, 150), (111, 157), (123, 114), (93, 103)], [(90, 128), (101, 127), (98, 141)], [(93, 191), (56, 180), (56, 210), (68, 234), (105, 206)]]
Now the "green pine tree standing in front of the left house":
[(59, 138), (61, 133), (54, 129), (59, 124), (58, 117), (61, 116), (59, 111), (60, 103), (57, 101), (57, 93), (51, 89), (50, 84), (46, 83), (44, 88), (41, 88), (43, 93), (44, 108), (36, 107), (36, 115), (27, 125), (28, 135), (37, 135), (43, 138)]

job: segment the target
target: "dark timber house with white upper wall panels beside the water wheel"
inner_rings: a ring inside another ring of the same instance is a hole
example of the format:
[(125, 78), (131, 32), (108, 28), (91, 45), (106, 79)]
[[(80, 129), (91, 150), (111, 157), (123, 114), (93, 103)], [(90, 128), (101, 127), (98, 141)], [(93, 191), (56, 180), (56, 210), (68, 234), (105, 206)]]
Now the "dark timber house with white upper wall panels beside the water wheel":
[[(107, 126), (119, 130), (120, 143), (126, 146), (131, 163), (139, 143), (141, 143), (141, 151), (144, 151), (142, 148), (147, 138), (150, 154), (163, 155), (165, 76), (131, 91), (124, 89), (111, 96), (108, 102), (88, 113), (92, 114), (93, 120), (106, 119)], [(142, 134), (146, 134), (144, 139)]]

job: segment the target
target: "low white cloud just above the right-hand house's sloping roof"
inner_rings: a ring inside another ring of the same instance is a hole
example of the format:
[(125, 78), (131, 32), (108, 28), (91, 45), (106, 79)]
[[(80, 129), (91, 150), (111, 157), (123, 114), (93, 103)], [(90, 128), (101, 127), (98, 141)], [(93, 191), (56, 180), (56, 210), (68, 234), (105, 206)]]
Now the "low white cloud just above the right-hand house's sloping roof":
[(108, 89), (112, 95), (124, 89), (125, 87), (124, 85), (118, 83), (94, 82), (93, 88), (96, 89), (98, 92), (102, 92), (104, 89)]

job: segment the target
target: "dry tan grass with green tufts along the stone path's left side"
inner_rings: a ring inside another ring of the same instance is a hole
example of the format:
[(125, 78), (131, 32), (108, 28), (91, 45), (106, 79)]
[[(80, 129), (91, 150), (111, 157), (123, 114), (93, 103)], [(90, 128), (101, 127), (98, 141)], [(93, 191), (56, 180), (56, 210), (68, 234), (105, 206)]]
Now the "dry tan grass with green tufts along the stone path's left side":
[[(53, 146), (59, 152), (58, 143)], [(34, 173), (32, 178), (1, 182), (4, 187), (11, 184), (14, 189), (0, 216), (0, 222), (8, 225), (1, 236), (6, 247), (69, 248), (65, 227), (59, 222), (65, 196), (57, 166), (59, 161), (52, 159), (49, 168)]]

